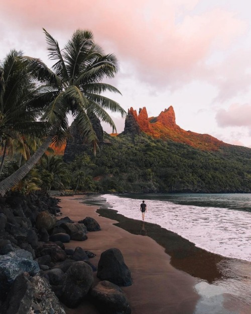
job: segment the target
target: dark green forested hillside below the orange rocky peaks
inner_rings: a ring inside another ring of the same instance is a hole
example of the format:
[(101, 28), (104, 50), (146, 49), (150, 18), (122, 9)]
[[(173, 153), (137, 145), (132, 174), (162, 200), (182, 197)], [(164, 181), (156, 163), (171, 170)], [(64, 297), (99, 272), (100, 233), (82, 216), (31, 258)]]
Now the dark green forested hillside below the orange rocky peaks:
[[(65, 163), (62, 156), (44, 155), (16, 185), (27, 193), (42, 190), (73, 192), (219, 193), (251, 192), (251, 149), (229, 145), (201, 151), (186, 144), (139, 136), (105, 134), (104, 144)], [(2, 178), (17, 163), (8, 156)]]

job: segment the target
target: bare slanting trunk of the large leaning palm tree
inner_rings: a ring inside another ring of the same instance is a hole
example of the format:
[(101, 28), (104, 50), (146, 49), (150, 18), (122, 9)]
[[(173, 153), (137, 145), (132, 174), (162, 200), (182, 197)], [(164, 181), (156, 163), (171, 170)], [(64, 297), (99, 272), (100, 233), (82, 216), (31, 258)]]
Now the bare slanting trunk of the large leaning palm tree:
[(36, 165), (39, 159), (46, 152), (47, 148), (52, 142), (53, 136), (50, 135), (44, 141), (44, 143), (38, 148), (38, 150), (31, 156), (31, 158), (16, 172), (11, 174), (8, 178), (0, 182), (0, 195), (4, 196), (7, 191), (9, 191), (14, 185), (16, 185), (20, 180), (22, 180), (27, 173)]

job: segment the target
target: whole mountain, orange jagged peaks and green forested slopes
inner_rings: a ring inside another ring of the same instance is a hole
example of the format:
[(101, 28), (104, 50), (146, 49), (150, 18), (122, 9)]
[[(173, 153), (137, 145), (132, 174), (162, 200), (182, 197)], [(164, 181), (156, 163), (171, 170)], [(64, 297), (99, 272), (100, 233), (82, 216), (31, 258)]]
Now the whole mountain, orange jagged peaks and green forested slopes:
[(97, 192), (251, 192), (251, 149), (181, 129), (173, 107), (150, 118), (146, 108), (139, 114), (131, 108), (124, 131), (116, 136), (103, 132), (100, 121), (92, 119), (100, 147), (95, 155), (76, 124), (71, 126), (64, 151), (73, 176), (70, 188), (76, 187), (74, 177), (81, 172)]

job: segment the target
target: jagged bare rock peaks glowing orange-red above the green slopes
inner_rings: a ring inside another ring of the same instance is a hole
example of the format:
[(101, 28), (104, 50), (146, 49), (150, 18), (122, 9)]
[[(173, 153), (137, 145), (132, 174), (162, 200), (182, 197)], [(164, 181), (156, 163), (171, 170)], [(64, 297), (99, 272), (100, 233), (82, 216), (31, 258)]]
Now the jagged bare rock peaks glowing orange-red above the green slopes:
[[(99, 145), (105, 144), (99, 119), (94, 116), (90, 117), (90, 119), (97, 134)], [(172, 140), (206, 151), (216, 151), (230, 145), (208, 134), (199, 134), (181, 129), (176, 124), (175, 112), (172, 106), (162, 111), (158, 117), (150, 118), (148, 117), (146, 107), (140, 109), (139, 114), (131, 107), (128, 110), (122, 134), (139, 135), (141, 132), (155, 139)], [(70, 138), (62, 146), (51, 146), (57, 155), (64, 155), (65, 161), (72, 161), (76, 154), (85, 151), (85, 145), (83, 145), (84, 139), (79, 136), (74, 122), (70, 127), (70, 133)], [(111, 134), (111, 136), (117, 135), (118, 134)]]

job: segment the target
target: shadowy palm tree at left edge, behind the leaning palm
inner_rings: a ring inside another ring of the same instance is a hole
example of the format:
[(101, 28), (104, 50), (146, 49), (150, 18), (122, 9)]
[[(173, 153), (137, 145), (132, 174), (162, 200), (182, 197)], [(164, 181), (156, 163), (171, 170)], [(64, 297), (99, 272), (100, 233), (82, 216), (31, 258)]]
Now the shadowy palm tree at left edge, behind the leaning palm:
[(22, 55), (21, 51), (11, 50), (0, 64), (0, 174), (15, 141), (42, 134), (42, 124), (36, 121), (41, 107), (38, 101), (33, 102), (37, 88)]

